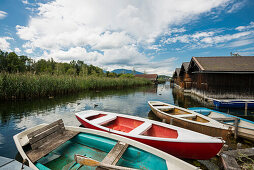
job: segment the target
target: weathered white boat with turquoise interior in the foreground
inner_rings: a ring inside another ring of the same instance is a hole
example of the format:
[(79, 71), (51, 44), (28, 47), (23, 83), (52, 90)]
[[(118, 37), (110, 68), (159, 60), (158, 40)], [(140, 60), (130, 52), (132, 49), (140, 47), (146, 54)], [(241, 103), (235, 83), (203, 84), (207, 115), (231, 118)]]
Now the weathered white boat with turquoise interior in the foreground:
[(64, 127), (62, 120), (27, 129), (13, 138), (22, 158), (33, 169), (95, 169), (98, 165), (96, 169), (198, 169), (122, 136)]

